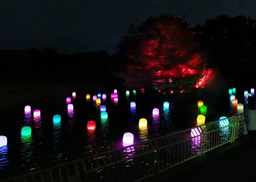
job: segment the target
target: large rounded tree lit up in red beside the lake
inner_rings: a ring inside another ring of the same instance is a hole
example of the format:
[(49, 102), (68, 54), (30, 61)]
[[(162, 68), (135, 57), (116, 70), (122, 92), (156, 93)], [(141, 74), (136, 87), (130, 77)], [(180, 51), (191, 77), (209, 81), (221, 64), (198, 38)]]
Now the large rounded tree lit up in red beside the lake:
[(203, 88), (213, 75), (194, 40), (194, 32), (175, 15), (151, 17), (136, 28), (131, 26), (120, 40), (119, 53), (129, 60), (120, 75), (130, 87), (185, 92)]

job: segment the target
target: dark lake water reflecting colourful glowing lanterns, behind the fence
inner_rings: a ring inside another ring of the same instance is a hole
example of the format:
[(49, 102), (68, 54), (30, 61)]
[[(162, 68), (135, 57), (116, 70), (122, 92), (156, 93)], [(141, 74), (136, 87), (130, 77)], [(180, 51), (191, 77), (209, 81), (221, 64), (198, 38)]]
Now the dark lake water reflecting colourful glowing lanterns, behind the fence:
[[(0, 148), (0, 179), (120, 148), (125, 132), (133, 133), (136, 143), (196, 126), (197, 115), (200, 114), (197, 107), (199, 100), (203, 100), (208, 107), (207, 112), (203, 113), (205, 123), (238, 113), (236, 106), (230, 102), (228, 89), (218, 95), (191, 93), (186, 96), (167, 96), (152, 90), (145, 90), (144, 93), (129, 90), (130, 94), (127, 95), (126, 90), (119, 89), (118, 101), (110, 97), (113, 90), (99, 90), (107, 95), (106, 99), (101, 98), (101, 104), (96, 104), (92, 98), (98, 92), (87, 92), (85, 89), (77, 91), (76, 97), (72, 97), (73, 91), (58, 95), (48, 93), (47, 96), (52, 97), (49, 102), (37, 103), (35, 100), (32, 104), (14, 105), (16, 121), (3, 118), (5, 122), (0, 135), (7, 136), (8, 146)], [(90, 99), (86, 99), (86, 94), (90, 94)], [(71, 97), (73, 110), (67, 109), (69, 103), (66, 103), (66, 97)], [(242, 89), (237, 90), (236, 97), (239, 103), (245, 104)], [(163, 107), (165, 101), (170, 103), (167, 108)], [(136, 102), (136, 107), (130, 107), (131, 102)], [(31, 106), (31, 112), (24, 112), (26, 105)], [(107, 119), (100, 117), (101, 105), (106, 106)], [(159, 115), (152, 114), (153, 108), (159, 109)], [(41, 116), (33, 117), (35, 109), (41, 110)], [(53, 122), (55, 114), (61, 115), (60, 123)], [(147, 120), (146, 128), (139, 128), (141, 118)], [(96, 130), (87, 130), (86, 125), (90, 120), (96, 122)], [(20, 135), (23, 126), (31, 127), (31, 136)]]

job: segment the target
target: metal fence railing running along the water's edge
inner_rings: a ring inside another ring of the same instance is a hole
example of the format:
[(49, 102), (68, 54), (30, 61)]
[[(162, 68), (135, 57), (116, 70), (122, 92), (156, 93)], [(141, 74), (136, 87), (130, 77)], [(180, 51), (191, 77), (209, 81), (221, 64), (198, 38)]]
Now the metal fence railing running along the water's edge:
[(140, 181), (246, 133), (240, 114), (5, 181)]

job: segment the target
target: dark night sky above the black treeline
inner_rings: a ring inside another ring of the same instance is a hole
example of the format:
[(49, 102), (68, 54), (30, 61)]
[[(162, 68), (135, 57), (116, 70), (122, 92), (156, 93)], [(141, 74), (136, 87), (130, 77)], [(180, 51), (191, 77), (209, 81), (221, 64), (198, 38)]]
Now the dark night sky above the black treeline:
[(0, 50), (55, 49), (72, 54), (117, 49), (130, 24), (167, 12), (190, 26), (221, 14), (256, 19), (256, 1), (0, 1)]

